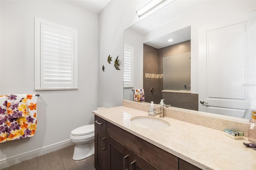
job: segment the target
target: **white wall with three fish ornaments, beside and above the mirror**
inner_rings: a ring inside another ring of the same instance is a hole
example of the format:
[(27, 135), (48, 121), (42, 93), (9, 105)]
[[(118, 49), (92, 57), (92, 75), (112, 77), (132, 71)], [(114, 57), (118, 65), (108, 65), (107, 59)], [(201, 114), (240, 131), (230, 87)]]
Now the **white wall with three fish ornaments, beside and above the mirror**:
[[(115, 107), (123, 100), (123, 32), (147, 15), (138, 18), (136, 10), (142, 8), (145, 0), (111, 0), (99, 14), (99, 106)], [(112, 56), (111, 65), (108, 55)], [(120, 69), (114, 68), (119, 55)], [(102, 65), (105, 71), (102, 71)]]

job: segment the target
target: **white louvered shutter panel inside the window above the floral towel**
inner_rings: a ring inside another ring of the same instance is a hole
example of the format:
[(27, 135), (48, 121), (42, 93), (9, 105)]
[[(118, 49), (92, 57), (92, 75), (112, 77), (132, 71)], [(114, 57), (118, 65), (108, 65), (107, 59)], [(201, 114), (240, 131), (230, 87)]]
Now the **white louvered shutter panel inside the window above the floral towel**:
[(41, 87), (70, 87), (74, 33), (41, 24)]

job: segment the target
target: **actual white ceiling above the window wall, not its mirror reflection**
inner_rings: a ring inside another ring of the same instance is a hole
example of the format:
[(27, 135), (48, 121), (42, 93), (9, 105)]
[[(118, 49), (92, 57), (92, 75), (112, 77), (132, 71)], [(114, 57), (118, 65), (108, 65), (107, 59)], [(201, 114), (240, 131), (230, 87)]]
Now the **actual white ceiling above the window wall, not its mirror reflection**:
[(110, 2), (110, 0), (68, 0), (74, 4), (81, 6), (86, 10), (95, 12), (96, 14), (100, 13), (102, 9)]

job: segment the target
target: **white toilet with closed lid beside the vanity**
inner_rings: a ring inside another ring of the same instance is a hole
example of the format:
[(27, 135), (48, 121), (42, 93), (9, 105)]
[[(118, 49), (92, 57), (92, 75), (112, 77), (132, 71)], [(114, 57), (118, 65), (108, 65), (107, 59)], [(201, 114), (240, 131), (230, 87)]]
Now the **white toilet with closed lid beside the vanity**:
[(70, 141), (75, 144), (73, 160), (94, 154), (94, 125), (85, 125), (71, 131)]

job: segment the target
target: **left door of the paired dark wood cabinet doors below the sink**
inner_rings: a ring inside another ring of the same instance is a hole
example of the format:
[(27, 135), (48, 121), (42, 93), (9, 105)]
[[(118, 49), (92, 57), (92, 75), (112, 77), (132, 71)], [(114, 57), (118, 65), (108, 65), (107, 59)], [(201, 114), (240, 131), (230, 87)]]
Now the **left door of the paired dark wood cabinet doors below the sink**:
[(108, 170), (130, 170), (130, 150), (106, 134), (106, 160)]

